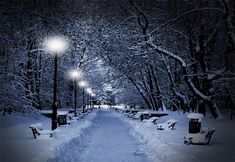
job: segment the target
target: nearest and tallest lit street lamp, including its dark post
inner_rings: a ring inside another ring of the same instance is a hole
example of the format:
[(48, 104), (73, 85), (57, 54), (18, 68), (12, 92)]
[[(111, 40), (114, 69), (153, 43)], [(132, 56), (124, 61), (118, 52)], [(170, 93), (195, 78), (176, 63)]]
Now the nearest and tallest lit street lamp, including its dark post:
[(58, 56), (63, 54), (68, 47), (68, 43), (63, 37), (49, 37), (44, 42), (45, 50), (54, 56), (54, 84), (53, 84), (53, 102), (51, 129), (57, 128), (57, 73), (58, 73)]

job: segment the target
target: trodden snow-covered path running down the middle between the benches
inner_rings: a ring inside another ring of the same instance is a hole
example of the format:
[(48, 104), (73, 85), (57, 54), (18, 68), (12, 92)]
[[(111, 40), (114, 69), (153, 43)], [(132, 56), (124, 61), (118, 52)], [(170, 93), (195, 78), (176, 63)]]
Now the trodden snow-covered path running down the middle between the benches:
[(100, 110), (93, 125), (73, 139), (49, 161), (147, 162), (128, 127), (111, 110)]

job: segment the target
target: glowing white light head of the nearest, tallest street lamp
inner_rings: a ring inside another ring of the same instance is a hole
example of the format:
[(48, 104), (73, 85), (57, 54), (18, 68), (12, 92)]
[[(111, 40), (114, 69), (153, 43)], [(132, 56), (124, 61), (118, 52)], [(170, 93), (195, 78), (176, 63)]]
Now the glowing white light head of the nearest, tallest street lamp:
[(68, 42), (65, 37), (53, 36), (45, 40), (44, 47), (49, 53), (59, 55), (68, 48)]

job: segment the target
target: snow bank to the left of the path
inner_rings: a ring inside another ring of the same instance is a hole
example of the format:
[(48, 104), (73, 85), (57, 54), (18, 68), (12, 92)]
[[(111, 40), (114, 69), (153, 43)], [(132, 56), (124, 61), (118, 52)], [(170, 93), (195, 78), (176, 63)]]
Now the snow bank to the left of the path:
[[(39, 136), (34, 139), (30, 125), (41, 123), (44, 129), (50, 129), (51, 120), (44, 116), (38, 119), (12, 114), (0, 116), (0, 159), (7, 162), (43, 162), (55, 156), (56, 150), (65, 143), (81, 135), (84, 128), (91, 125), (96, 116), (96, 110), (87, 115), (84, 119), (72, 122), (70, 125), (58, 127), (53, 137)], [(14, 155), (14, 156), (13, 156)]]

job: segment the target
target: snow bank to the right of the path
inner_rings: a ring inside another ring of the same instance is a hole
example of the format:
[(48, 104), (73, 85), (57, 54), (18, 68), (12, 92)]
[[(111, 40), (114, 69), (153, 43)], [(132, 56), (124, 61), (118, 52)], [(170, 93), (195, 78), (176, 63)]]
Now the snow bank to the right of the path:
[[(169, 112), (168, 116), (160, 117), (157, 123), (164, 123), (169, 119), (177, 120), (175, 130), (157, 130), (157, 125), (146, 124), (131, 120), (122, 114), (130, 133), (142, 144), (142, 150), (148, 158), (159, 162), (232, 162), (235, 161), (235, 128), (234, 121), (213, 120), (205, 118), (204, 125), (216, 129), (214, 139), (210, 145), (185, 145), (184, 136), (188, 132), (188, 114)], [(228, 130), (231, 133), (228, 133)]]

